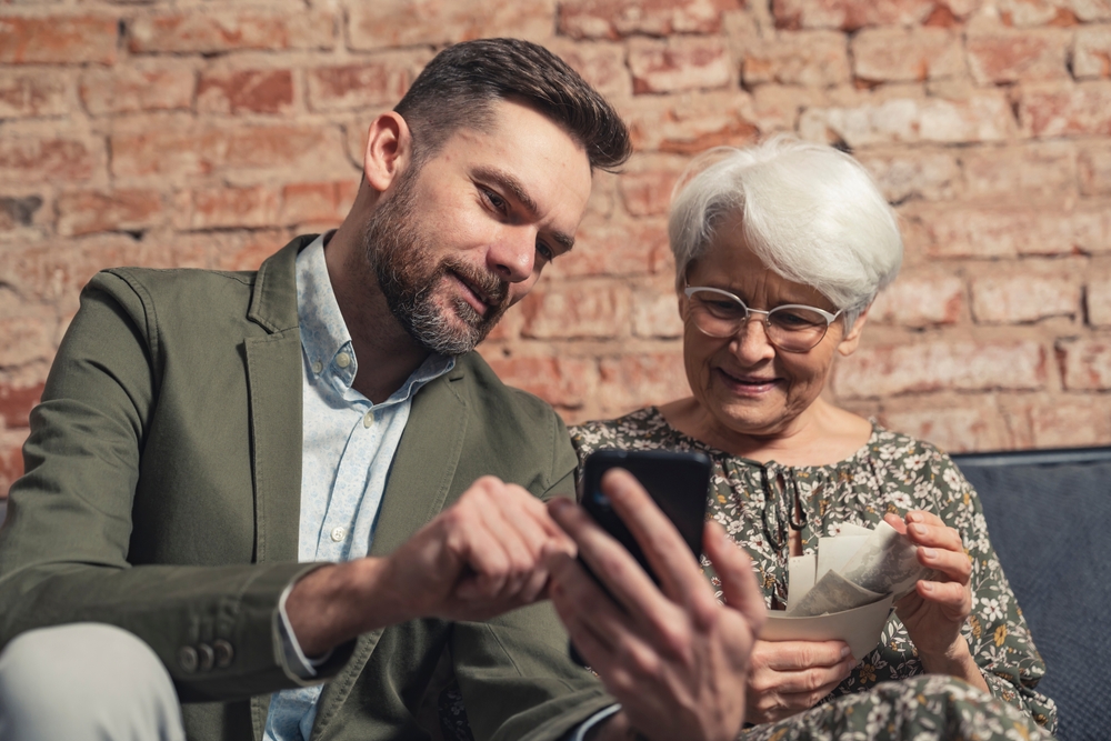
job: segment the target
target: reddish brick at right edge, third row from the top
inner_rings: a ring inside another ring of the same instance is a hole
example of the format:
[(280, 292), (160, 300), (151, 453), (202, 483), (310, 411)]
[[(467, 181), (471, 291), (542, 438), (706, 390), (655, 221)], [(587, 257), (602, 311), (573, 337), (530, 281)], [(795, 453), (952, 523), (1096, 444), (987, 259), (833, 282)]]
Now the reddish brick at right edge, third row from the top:
[(1111, 136), (1111, 82), (1023, 90), (1019, 118), (1023, 130), (1035, 137)]

